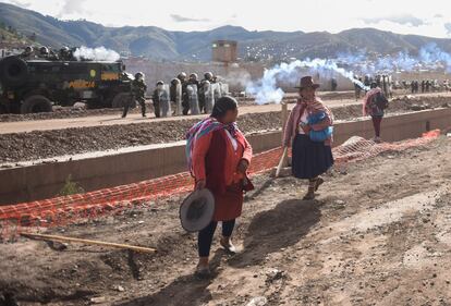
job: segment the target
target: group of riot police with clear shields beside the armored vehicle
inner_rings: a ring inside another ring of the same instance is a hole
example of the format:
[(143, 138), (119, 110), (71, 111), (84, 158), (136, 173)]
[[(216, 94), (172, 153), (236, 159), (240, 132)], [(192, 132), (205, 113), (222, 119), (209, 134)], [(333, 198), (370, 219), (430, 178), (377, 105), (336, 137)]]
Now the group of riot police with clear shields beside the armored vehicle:
[[(132, 83), (132, 96), (133, 100), (139, 103), (143, 117), (146, 117), (146, 91), (145, 75), (138, 72)], [(170, 84), (157, 82), (151, 95), (155, 117), (211, 113), (215, 101), (228, 91), (227, 84), (220, 82), (211, 72), (206, 72), (200, 81), (196, 73), (187, 76), (185, 72), (181, 72)], [(130, 103), (125, 103), (123, 118), (126, 117), (129, 108)]]

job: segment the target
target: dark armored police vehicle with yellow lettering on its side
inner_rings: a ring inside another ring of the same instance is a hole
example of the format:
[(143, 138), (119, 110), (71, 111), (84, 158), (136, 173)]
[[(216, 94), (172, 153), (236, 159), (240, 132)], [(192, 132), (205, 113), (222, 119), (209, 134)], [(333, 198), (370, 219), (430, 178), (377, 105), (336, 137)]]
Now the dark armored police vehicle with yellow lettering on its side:
[(133, 76), (121, 61), (0, 60), (0, 113), (50, 112), (52, 106), (119, 108), (132, 99)]

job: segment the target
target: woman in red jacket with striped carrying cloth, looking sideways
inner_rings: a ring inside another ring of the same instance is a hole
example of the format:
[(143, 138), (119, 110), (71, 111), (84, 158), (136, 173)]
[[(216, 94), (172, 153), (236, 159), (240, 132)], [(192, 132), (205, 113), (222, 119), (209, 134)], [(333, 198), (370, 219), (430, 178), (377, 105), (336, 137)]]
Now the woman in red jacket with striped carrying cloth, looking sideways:
[(231, 241), (235, 219), (241, 216), (243, 193), (252, 188), (246, 171), (252, 147), (236, 127), (237, 103), (232, 97), (220, 98), (211, 117), (194, 125), (187, 134), (187, 155), (196, 189), (208, 188), (215, 196), (211, 223), (198, 233), (198, 276), (209, 274), (208, 258), (218, 221), (222, 221), (220, 244), (236, 249)]

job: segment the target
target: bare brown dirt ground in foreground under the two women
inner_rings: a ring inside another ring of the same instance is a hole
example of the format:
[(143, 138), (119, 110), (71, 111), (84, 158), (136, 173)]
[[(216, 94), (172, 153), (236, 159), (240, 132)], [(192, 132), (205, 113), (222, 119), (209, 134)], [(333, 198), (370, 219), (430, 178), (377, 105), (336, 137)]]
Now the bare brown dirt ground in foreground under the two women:
[(0, 245), (0, 291), (21, 305), (451, 305), (451, 138), (337, 166), (305, 182), (254, 179), (229, 256), (198, 280), (180, 197), (50, 233), (156, 247), (157, 255), (21, 238)]

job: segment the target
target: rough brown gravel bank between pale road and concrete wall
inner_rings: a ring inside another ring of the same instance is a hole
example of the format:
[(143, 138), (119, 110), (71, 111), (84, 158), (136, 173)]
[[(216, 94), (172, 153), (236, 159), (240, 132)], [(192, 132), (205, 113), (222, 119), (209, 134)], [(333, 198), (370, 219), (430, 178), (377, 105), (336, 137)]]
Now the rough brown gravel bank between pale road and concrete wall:
[[(332, 107), (336, 120), (356, 120), (362, 117), (359, 103), (341, 106), (340, 101), (327, 102)], [(438, 107), (451, 107), (451, 96), (397, 97), (391, 101), (388, 113), (397, 114)], [(255, 108), (261, 109), (258, 111), (246, 109), (239, 118), (237, 123), (243, 132), (255, 133), (281, 127), (280, 106)], [(276, 108), (276, 111), (271, 111), (271, 108)], [(186, 131), (199, 119), (200, 117), (166, 121), (148, 120), (135, 121), (142, 123), (134, 124), (0, 133), (0, 163), (8, 163), (2, 167), (11, 167), (11, 163), (19, 161), (182, 140)], [(49, 123), (52, 121), (46, 120)], [(27, 124), (27, 122), (8, 124)]]

